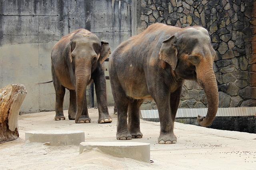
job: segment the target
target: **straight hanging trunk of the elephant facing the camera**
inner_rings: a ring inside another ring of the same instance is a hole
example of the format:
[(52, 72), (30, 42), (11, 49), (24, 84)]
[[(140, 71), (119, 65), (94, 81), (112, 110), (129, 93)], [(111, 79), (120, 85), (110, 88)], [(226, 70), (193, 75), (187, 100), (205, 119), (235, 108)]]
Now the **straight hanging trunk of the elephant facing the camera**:
[(91, 78), (91, 67), (80, 62), (76, 64), (75, 68), (75, 77), (76, 77), (76, 118), (75, 122), (78, 122), (78, 119), (82, 115), (84, 98), (86, 93), (86, 85)]

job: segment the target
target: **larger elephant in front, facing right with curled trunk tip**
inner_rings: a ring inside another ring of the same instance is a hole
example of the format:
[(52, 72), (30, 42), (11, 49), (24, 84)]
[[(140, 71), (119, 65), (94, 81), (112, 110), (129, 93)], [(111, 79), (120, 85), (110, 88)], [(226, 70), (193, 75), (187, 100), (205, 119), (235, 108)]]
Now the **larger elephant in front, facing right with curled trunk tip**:
[(115, 49), (109, 59), (109, 74), (118, 113), (116, 139), (142, 138), (140, 106), (149, 99), (158, 107), (158, 143), (176, 143), (174, 119), (184, 80), (195, 80), (204, 89), (208, 112), (197, 120), (204, 127), (212, 123), (219, 100), (213, 70), (216, 52), (210, 41), (208, 31), (200, 26), (155, 23)]

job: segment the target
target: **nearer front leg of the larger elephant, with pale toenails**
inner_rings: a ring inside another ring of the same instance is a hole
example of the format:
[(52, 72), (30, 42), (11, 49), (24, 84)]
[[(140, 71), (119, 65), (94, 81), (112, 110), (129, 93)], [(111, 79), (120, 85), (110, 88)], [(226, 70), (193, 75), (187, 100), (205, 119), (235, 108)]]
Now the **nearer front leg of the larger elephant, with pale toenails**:
[(172, 119), (170, 108), (170, 92), (168, 90), (155, 90), (154, 100), (156, 102), (159, 119), (160, 119), (160, 135), (158, 138), (159, 144), (176, 143), (177, 137), (174, 135), (174, 120)]

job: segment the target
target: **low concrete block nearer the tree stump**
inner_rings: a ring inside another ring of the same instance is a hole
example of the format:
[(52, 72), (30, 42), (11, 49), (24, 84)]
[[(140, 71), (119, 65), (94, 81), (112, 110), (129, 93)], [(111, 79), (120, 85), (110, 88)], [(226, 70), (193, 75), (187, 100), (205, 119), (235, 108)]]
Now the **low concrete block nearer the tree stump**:
[(31, 142), (46, 143), (49, 145), (79, 145), (84, 142), (83, 131), (28, 131), (25, 132), (25, 140)]

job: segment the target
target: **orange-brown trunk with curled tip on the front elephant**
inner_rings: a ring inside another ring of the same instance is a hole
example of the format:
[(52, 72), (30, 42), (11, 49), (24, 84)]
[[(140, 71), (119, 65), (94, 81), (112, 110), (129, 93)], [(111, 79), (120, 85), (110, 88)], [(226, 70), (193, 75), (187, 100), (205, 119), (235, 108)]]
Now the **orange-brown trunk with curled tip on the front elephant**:
[(208, 101), (208, 111), (206, 117), (198, 115), (197, 121), (201, 126), (207, 127), (212, 124), (212, 121), (214, 120), (218, 111), (218, 86), (212, 64), (210, 64), (210, 67), (208, 68), (198, 66), (196, 73), (198, 84), (200, 84), (200, 86), (202, 86), (204, 89)]

